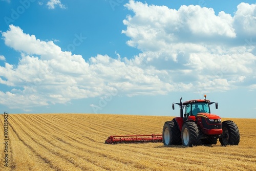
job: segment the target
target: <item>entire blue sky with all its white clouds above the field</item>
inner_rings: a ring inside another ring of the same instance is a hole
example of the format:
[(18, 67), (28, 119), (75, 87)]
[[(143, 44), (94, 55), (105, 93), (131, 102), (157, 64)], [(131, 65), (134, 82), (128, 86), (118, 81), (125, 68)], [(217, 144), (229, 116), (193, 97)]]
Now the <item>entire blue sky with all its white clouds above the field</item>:
[(0, 109), (256, 118), (254, 1), (0, 1)]

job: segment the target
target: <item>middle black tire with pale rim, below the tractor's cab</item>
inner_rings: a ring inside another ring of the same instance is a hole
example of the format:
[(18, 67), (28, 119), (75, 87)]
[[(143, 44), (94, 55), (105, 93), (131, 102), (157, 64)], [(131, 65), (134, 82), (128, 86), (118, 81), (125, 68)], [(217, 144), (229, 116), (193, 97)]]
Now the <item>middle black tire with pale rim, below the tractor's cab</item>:
[(200, 145), (199, 129), (195, 122), (185, 122), (183, 124), (181, 141), (184, 146)]

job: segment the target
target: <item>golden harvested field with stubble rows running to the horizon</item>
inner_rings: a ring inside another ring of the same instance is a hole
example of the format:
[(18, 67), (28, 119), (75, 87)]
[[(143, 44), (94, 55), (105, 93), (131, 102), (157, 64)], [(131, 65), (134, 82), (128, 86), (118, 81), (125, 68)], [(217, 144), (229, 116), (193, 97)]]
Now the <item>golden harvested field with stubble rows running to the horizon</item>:
[[(161, 134), (173, 117), (105, 114), (9, 114), (8, 167), (1, 116), (0, 170), (256, 170), (256, 119), (232, 119), (236, 146), (104, 144), (110, 135)], [(226, 120), (226, 119), (222, 119)]]

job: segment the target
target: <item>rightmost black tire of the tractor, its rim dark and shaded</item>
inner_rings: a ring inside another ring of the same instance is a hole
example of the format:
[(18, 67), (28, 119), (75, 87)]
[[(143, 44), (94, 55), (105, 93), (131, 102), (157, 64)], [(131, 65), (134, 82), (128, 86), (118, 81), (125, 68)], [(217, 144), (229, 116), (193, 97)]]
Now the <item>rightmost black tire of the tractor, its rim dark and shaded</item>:
[(221, 126), (224, 136), (224, 138), (220, 138), (221, 145), (238, 145), (240, 133), (237, 124), (233, 121), (224, 121)]

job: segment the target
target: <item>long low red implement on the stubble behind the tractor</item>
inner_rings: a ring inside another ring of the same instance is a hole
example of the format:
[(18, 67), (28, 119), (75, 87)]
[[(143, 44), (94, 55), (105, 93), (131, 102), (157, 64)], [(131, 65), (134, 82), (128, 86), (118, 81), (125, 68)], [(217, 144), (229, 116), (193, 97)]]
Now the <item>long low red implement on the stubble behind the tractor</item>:
[(145, 142), (162, 142), (162, 134), (151, 135), (113, 135), (105, 140), (106, 144), (117, 143), (145, 143)]

